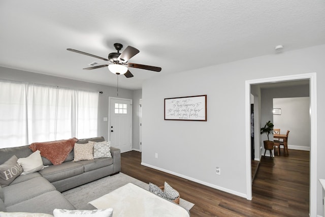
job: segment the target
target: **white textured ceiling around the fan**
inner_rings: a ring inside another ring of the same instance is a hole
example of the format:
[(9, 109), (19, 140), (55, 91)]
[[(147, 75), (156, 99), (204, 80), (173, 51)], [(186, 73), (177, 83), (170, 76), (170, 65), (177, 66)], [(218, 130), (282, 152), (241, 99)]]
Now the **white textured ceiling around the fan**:
[[(118, 42), (140, 50), (119, 86), (140, 89), (145, 79), (325, 44), (325, 1), (2, 0), (0, 66), (116, 86), (107, 68), (82, 70), (107, 58)], [(123, 51), (122, 49), (122, 51)]]

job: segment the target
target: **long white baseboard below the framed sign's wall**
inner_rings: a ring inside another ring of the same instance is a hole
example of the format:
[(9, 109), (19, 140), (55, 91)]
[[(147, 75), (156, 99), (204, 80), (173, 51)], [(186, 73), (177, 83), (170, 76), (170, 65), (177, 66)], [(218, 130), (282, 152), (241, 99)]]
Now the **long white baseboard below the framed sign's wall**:
[(236, 192), (236, 191), (233, 191), (231, 189), (222, 188), (222, 187), (220, 187), (218, 185), (211, 184), (211, 183), (208, 183), (208, 182), (205, 182), (205, 181), (196, 179), (196, 178), (192, 178), (192, 177), (189, 177), (189, 176), (186, 176), (186, 175), (182, 175), (182, 174), (179, 174), (179, 173), (175, 173), (175, 172), (172, 172), (172, 171), (169, 171), (169, 170), (165, 170), (165, 169), (162, 169), (162, 168), (159, 168), (159, 167), (155, 167), (155, 166), (152, 166), (150, 164), (146, 164), (146, 163), (142, 163), (142, 162), (141, 162), (141, 165), (146, 166), (146, 167), (150, 167), (152, 169), (160, 170), (160, 171), (163, 171), (163, 172), (172, 174), (172, 175), (176, 175), (176, 176), (179, 176), (181, 178), (185, 178), (185, 179), (188, 179), (188, 180), (191, 180), (191, 181), (194, 181), (194, 182), (197, 182), (197, 183), (200, 183), (200, 184), (209, 186), (211, 188), (214, 188), (214, 189), (217, 189), (217, 190), (226, 192), (226, 193), (230, 193), (230, 194), (233, 194), (233, 195), (237, 195), (239, 197), (247, 198), (247, 195), (246, 194), (243, 194), (243, 193), (240, 193), (240, 192)]

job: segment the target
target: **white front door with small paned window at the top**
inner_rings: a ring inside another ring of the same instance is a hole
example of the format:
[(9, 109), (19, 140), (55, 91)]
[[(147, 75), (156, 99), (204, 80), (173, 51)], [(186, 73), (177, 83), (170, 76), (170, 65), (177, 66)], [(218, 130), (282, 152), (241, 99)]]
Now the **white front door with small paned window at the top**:
[(131, 151), (132, 100), (110, 98), (109, 138), (111, 146), (121, 149), (121, 153)]

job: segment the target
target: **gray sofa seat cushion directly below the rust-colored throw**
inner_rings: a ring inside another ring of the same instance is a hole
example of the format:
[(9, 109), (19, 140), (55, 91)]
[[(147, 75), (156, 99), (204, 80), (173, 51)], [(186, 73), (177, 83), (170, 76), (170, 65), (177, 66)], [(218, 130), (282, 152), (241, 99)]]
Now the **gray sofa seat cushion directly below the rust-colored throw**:
[(48, 181), (54, 182), (82, 174), (83, 170), (83, 165), (70, 161), (60, 165), (48, 166), (39, 171), (39, 173)]

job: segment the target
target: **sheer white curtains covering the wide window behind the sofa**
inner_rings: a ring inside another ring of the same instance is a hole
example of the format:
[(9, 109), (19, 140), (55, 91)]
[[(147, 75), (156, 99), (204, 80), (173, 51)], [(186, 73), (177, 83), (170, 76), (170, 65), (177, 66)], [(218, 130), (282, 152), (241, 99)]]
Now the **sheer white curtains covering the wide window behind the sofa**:
[(11, 81), (0, 91), (0, 147), (97, 136), (99, 92)]

